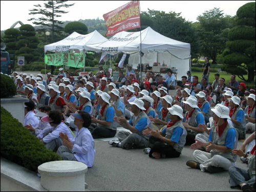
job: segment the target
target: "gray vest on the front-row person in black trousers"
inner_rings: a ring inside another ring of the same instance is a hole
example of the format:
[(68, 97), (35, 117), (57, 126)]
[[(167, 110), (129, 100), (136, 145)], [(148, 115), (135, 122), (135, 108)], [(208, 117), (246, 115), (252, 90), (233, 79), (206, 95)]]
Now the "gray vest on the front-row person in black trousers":
[(186, 136), (187, 136), (187, 131), (186, 131), (185, 127), (183, 126), (182, 121), (178, 121), (178, 122), (176, 122), (173, 126), (166, 128), (166, 135), (165, 135), (165, 138), (166, 138), (166, 139), (172, 138), (173, 131), (174, 131), (174, 129), (175, 129), (177, 126), (180, 126), (180, 127), (183, 129), (183, 133), (182, 133), (182, 135), (181, 135), (181, 137), (180, 137), (179, 142), (174, 144), (174, 149), (175, 149), (177, 152), (180, 152), (180, 153), (181, 153), (181, 151), (182, 151), (182, 149), (183, 149), (183, 146), (184, 146), (185, 143), (186, 143)]

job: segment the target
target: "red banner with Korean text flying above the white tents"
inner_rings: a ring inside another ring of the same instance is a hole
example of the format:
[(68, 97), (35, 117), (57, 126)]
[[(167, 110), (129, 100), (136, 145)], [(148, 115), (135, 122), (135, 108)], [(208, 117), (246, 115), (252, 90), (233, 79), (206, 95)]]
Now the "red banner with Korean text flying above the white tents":
[(103, 18), (106, 23), (106, 36), (129, 29), (140, 28), (139, 1), (131, 1), (114, 11), (104, 14)]

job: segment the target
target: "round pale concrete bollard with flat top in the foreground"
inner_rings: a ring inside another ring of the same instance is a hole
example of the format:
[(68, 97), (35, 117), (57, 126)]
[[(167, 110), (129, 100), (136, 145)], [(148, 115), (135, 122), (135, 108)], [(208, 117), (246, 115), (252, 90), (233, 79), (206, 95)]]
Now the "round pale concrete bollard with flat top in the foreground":
[(38, 166), (41, 185), (49, 191), (84, 191), (87, 165), (77, 161), (51, 161)]

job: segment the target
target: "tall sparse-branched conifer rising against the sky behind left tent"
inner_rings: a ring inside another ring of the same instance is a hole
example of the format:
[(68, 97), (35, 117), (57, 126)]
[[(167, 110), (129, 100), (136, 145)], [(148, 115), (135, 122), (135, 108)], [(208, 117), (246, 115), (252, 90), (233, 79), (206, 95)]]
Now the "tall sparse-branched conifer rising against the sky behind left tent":
[(44, 7), (40, 4), (34, 5), (35, 9), (29, 10), (30, 15), (42, 15), (39, 18), (30, 18), (28, 20), (35, 20), (33, 24), (45, 26), (47, 29), (51, 30), (52, 39), (51, 42), (55, 40), (55, 36), (58, 35), (58, 32), (63, 29), (60, 27), (60, 24), (63, 24), (60, 20), (57, 20), (57, 17), (60, 17), (60, 14), (68, 13), (68, 11), (60, 10), (61, 8), (68, 8), (74, 4), (65, 4), (68, 1), (47, 1), (44, 3)]

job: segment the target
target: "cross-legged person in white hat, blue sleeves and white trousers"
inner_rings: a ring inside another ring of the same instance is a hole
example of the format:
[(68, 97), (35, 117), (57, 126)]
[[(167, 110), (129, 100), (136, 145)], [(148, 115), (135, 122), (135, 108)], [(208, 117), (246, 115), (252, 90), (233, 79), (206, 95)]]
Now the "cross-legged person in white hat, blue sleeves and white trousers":
[(190, 146), (192, 149), (205, 147), (206, 152), (195, 150), (193, 156), (196, 161), (187, 161), (186, 165), (202, 172), (218, 173), (235, 165), (237, 157), (231, 151), (237, 147), (238, 134), (227, 121), (230, 118), (227, 106), (216, 105), (211, 111), (216, 124), (210, 130), (208, 142), (196, 140)]

